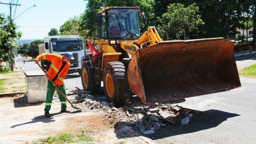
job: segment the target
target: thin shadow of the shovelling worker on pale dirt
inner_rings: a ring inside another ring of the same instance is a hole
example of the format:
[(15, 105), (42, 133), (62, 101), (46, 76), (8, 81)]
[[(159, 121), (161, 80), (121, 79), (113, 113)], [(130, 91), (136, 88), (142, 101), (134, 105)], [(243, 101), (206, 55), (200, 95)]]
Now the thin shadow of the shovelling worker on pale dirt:
[[(51, 122), (54, 122), (54, 121), (55, 121), (53, 118), (54, 118), (54, 117), (57, 117), (57, 116), (60, 116), (60, 114), (62, 114), (62, 115), (67, 115), (67, 114), (75, 114), (75, 113), (79, 113), (79, 112), (81, 112), (81, 111), (76, 110), (76, 111), (73, 111), (73, 112), (70, 112), (70, 113), (58, 112), (58, 113), (53, 113), (53, 114), (51, 114), (51, 117), (49, 117), (49, 118), (45, 117), (44, 115), (36, 116), (36, 117), (34, 117), (33, 119), (31, 119), (30, 122), (26, 122), (26, 123), (22, 123), (22, 124), (15, 124), (15, 125), (11, 126), (11, 128), (14, 128), (14, 127), (20, 126), (20, 125), (25, 125), (25, 124), (33, 124), (33, 123), (37, 123), (37, 122), (51, 123)], [(62, 116), (62, 115), (61, 115), (61, 116)]]

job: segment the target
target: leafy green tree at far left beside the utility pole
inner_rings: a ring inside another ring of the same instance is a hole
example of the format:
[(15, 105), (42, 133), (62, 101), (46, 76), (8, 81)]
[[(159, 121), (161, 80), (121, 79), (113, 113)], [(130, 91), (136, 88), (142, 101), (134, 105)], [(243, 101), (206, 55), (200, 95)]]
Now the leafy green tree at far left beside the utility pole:
[[(11, 49), (18, 46), (15, 39), (20, 39), (21, 34), (11, 17), (0, 13), (0, 57), (4, 57)], [(11, 52), (11, 69), (13, 70), (12, 58)]]

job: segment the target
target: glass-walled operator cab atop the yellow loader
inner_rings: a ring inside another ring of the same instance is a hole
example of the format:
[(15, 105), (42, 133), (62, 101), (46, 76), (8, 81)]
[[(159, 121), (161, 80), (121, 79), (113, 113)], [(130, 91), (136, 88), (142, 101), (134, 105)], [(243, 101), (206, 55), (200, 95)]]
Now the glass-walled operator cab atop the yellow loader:
[(98, 39), (134, 42), (140, 38), (137, 7), (109, 7), (96, 15)]

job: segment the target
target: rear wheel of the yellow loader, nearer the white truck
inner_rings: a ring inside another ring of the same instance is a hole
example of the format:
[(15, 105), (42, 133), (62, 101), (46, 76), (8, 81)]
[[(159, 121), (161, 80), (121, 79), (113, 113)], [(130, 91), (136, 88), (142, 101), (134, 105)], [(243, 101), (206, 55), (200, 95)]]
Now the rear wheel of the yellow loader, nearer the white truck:
[(84, 90), (98, 94), (100, 92), (100, 84), (95, 84), (95, 69), (91, 68), (90, 62), (85, 62), (81, 69), (81, 79)]

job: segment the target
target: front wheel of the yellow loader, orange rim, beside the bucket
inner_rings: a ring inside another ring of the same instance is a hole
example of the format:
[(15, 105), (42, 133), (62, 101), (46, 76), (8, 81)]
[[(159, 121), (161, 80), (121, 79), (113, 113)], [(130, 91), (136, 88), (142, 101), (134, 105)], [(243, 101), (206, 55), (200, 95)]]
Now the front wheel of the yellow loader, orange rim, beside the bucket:
[(105, 66), (103, 76), (104, 91), (109, 102), (115, 107), (127, 105), (131, 99), (127, 69), (122, 62), (109, 62)]

